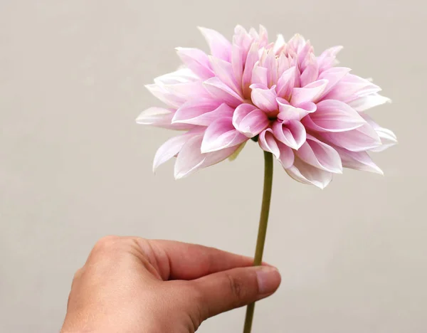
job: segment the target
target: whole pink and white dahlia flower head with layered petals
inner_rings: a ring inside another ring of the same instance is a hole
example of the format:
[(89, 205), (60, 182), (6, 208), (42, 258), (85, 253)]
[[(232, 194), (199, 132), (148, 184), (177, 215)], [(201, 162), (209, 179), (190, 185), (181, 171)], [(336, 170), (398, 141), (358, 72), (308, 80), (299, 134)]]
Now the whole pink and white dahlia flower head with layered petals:
[(154, 169), (176, 157), (179, 179), (235, 157), (253, 139), (305, 184), (324, 188), (343, 167), (382, 174), (368, 152), (396, 144), (396, 136), (364, 112), (389, 99), (370, 80), (335, 67), (342, 47), (315, 56), (300, 35), (268, 43), (263, 26), (259, 33), (236, 26), (232, 43), (201, 32), (210, 56), (177, 48), (184, 66), (147, 85), (167, 107), (151, 107), (137, 122), (185, 131), (159, 148)]

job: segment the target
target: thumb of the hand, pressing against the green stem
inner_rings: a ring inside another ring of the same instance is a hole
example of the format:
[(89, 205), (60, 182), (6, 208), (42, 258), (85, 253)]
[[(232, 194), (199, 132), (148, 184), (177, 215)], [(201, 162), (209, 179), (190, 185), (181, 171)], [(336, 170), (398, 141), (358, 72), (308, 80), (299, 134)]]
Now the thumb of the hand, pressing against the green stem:
[(280, 285), (280, 273), (271, 266), (233, 268), (190, 283), (198, 291), (197, 309), (204, 318), (268, 297)]

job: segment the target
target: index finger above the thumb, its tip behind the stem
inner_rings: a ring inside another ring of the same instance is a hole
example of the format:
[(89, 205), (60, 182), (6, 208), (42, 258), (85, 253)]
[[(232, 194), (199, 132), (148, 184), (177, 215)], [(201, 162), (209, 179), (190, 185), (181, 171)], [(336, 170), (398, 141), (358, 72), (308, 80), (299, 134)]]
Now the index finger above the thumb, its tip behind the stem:
[(253, 264), (253, 258), (216, 248), (170, 240), (148, 241), (154, 250), (157, 262), (168, 263), (168, 267), (159, 265), (164, 280), (194, 280), (204, 275)]

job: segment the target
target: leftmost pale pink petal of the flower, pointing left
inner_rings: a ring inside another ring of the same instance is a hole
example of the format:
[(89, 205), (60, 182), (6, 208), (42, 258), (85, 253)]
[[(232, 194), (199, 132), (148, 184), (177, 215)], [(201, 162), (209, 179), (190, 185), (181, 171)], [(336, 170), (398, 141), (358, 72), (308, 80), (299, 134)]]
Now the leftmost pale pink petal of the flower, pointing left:
[(149, 107), (149, 109), (141, 112), (136, 121), (137, 124), (140, 125), (152, 125), (167, 129), (181, 130), (194, 127), (194, 125), (189, 124), (172, 124), (172, 117), (174, 117), (174, 112), (172, 110), (167, 110), (162, 107)]

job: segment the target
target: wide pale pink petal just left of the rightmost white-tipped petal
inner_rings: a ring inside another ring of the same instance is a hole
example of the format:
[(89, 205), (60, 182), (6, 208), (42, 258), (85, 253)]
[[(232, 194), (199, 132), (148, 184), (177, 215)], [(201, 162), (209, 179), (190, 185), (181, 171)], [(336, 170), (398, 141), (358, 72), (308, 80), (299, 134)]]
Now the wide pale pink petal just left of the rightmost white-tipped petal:
[(379, 135), (369, 124), (348, 132), (321, 132), (319, 135), (335, 146), (352, 152), (364, 152), (381, 145)]

